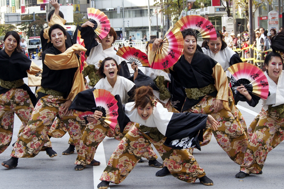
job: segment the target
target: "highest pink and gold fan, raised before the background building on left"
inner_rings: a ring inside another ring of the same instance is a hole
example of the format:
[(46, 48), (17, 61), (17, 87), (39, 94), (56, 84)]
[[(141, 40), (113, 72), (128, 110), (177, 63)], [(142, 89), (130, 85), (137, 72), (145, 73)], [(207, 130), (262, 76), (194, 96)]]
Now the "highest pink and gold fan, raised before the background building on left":
[(110, 31), (110, 20), (108, 16), (99, 9), (87, 8), (88, 18), (95, 24), (94, 31), (103, 39)]

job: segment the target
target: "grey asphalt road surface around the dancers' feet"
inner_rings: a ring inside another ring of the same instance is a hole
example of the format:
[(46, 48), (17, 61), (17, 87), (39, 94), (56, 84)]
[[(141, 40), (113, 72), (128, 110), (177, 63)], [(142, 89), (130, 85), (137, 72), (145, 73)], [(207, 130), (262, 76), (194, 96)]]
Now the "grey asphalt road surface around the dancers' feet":
[[(35, 60), (40, 65), (40, 60)], [(27, 81), (27, 80), (26, 80)], [(238, 104), (246, 123), (250, 124), (255, 115), (260, 111), (261, 105), (249, 107), (246, 103)], [(17, 132), (21, 125), (20, 119), (15, 116), (14, 136), (12, 143), (17, 139)], [(62, 138), (51, 138), (53, 149), (58, 156), (50, 158), (45, 151), (40, 152), (36, 157), (19, 159), (18, 167), (7, 169), (0, 166), (0, 188), (97, 188), (99, 178), (108, 162), (112, 152), (119, 143), (118, 140), (106, 137), (100, 144), (95, 159), (101, 161), (100, 166), (87, 166), (84, 170), (74, 170), (74, 161), (77, 154), (62, 155), (68, 147), (69, 135)], [(2, 154), (0, 161), (8, 160), (12, 145)], [(205, 186), (199, 183), (186, 183), (178, 180), (172, 175), (156, 177), (155, 173), (159, 168), (148, 166), (148, 161), (138, 163), (128, 177), (120, 184), (110, 184), (110, 188), (283, 188), (284, 173), (282, 156), (284, 146), (280, 143), (275, 149), (269, 152), (263, 167), (263, 174), (250, 175), (238, 179), (234, 175), (239, 171), (239, 165), (229, 159), (227, 154), (217, 144), (216, 140), (202, 146), (201, 151), (194, 150), (194, 157), (199, 165), (204, 168), (206, 175), (214, 181), (214, 185)], [(158, 155), (159, 156), (159, 155)], [(161, 162), (161, 158), (158, 160)]]

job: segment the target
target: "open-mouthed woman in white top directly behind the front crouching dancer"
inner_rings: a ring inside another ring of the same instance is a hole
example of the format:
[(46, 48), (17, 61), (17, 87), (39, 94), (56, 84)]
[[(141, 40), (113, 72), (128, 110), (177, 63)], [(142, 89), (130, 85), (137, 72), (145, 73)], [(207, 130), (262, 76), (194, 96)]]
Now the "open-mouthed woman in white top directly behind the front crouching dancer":
[[(119, 76), (117, 73), (119, 71), (119, 66), (116, 60), (112, 57), (105, 58), (98, 70), (99, 75), (102, 77), (99, 82), (95, 85), (96, 89), (106, 89), (110, 91), (113, 95), (119, 94), (123, 104), (127, 103), (131, 92), (133, 91), (134, 82), (129, 79)], [(89, 89), (88, 91), (93, 92), (94, 89)], [(86, 92), (86, 91), (85, 91)], [(81, 99), (84, 100), (84, 99)], [(72, 106), (70, 107), (72, 108)], [(112, 130), (107, 124), (95, 120), (94, 118), (87, 118), (90, 122), (87, 124), (83, 136), (80, 140), (80, 149), (78, 152), (77, 159), (75, 161), (75, 170), (82, 170), (87, 164), (99, 165), (100, 162), (96, 161), (94, 158), (96, 149), (98, 145), (103, 141), (103, 139), (108, 137), (115, 137), (118, 140), (128, 132), (133, 126), (132, 122), (127, 124), (123, 133), (120, 132), (119, 125)], [(156, 159), (158, 158), (153, 149), (149, 146), (144, 154), (144, 157), (149, 159), (149, 165), (155, 167), (162, 167)]]

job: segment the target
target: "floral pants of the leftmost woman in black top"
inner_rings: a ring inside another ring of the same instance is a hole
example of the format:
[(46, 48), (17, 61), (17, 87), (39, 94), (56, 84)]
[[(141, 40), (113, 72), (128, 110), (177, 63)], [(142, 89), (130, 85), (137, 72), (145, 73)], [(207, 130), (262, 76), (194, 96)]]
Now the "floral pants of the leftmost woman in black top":
[(22, 88), (12, 88), (0, 94), (0, 153), (5, 151), (11, 143), (14, 114), (18, 115), (22, 121), (22, 127), (25, 127), (33, 109), (34, 105), (28, 92)]

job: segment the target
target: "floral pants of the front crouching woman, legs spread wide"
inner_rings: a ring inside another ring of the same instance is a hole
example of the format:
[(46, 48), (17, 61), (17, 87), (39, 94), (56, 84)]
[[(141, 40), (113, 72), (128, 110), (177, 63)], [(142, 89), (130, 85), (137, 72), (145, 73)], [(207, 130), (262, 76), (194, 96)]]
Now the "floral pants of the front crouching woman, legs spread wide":
[(188, 152), (188, 149), (170, 148), (163, 144), (164, 141), (165, 138), (158, 142), (152, 140), (148, 135), (141, 132), (139, 124), (136, 124), (116, 147), (100, 180), (116, 184), (122, 182), (151, 143), (158, 150), (171, 174), (178, 179), (186, 182), (195, 182), (196, 178), (205, 175), (203, 168), (198, 165), (193, 155)]

